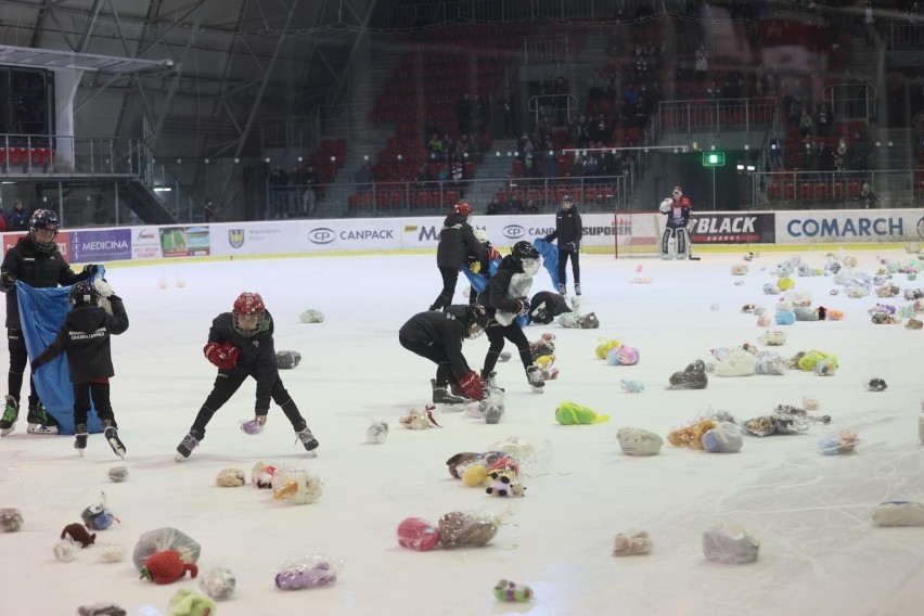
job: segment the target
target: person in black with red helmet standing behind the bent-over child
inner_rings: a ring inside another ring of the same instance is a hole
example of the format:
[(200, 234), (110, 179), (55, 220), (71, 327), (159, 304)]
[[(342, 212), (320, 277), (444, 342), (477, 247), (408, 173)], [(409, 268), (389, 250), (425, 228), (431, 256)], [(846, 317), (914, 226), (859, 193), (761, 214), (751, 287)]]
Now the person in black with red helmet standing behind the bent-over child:
[(439, 310), (452, 304), (455, 294), (455, 283), (459, 281), (459, 269), (466, 264), (476, 261), (478, 270), (488, 271), (488, 252), (485, 245), (475, 238), (475, 230), (469, 224), (472, 206), (458, 202), (439, 232), (439, 244), (436, 247), (436, 267), (442, 277), (442, 291), (431, 305), (431, 310)]

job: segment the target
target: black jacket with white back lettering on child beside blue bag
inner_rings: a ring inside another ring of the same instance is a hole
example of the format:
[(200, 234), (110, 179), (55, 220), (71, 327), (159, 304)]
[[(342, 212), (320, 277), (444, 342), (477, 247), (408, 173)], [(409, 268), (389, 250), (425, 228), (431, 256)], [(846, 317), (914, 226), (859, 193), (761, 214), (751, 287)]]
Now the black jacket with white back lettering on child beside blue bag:
[(100, 306), (79, 306), (70, 310), (57, 335), (33, 361), (33, 370), (66, 352), (72, 383), (90, 383), (115, 375), (110, 336), (128, 329), (128, 315), (119, 297), (110, 295), (108, 300), (112, 315)]

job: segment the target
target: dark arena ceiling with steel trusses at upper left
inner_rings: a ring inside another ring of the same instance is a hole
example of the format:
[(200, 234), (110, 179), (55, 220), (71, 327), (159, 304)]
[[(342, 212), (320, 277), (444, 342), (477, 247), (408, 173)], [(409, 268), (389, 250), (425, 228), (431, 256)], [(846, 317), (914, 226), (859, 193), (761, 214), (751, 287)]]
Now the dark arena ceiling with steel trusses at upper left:
[(246, 156), (259, 121), (336, 99), (377, 4), (2, 0), (0, 64), (79, 70), (78, 134)]

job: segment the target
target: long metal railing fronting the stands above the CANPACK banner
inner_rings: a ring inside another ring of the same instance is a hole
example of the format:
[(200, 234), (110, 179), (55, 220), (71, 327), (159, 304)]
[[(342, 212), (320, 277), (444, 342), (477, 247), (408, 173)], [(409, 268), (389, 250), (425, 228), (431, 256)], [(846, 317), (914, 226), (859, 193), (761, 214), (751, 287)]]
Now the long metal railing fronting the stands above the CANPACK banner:
[[(500, 185), (500, 188), (499, 188)], [(445, 214), (457, 201), (484, 215), (493, 197), (509, 213), (554, 211), (572, 195), (585, 211), (628, 210), (626, 176), (402, 181), (267, 188), (261, 218), (345, 218)], [(312, 206), (312, 203), (315, 204)]]

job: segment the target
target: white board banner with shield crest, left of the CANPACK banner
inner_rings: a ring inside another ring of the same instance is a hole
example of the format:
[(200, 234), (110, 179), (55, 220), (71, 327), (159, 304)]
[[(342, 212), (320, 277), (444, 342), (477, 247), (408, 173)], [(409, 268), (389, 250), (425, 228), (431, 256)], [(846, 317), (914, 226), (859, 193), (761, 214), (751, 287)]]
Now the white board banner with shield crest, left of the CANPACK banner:
[(294, 222), (220, 222), (210, 227), (213, 255), (279, 255), (308, 251), (308, 243), (299, 238), (300, 224)]

